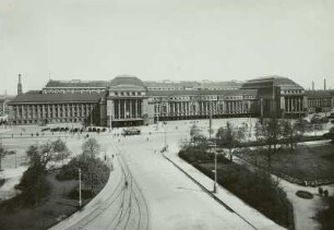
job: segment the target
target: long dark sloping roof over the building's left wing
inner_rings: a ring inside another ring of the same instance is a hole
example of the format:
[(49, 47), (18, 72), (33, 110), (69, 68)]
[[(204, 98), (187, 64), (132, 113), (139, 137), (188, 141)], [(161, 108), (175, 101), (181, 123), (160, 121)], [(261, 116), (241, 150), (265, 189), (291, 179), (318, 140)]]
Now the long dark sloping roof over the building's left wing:
[(15, 104), (55, 104), (55, 102), (97, 102), (106, 93), (92, 94), (21, 94), (10, 105)]

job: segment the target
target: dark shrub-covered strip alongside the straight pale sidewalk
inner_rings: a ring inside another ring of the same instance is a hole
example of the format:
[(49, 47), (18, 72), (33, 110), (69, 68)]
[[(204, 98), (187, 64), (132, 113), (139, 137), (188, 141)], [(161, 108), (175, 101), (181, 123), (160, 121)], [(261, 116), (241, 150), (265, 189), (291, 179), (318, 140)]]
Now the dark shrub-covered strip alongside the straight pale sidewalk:
[[(187, 147), (180, 150), (179, 156), (214, 179), (213, 153)], [(293, 229), (291, 204), (278, 182), (272, 180), (265, 171), (249, 170), (219, 155), (217, 157), (217, 182), (276, 223)]]

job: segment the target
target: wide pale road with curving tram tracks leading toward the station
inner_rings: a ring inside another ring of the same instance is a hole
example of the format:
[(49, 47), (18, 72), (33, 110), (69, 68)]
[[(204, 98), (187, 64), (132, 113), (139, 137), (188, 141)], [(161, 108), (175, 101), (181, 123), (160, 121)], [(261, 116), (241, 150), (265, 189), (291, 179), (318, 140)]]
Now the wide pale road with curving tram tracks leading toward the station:
[[(188, 135), (189, 126), (143, 129), (142, 135), (99, 135), (114, 160), (106, 187), (82, 211), (55, 229), (252, 229), (219, 205), (160, 154)], [(148, 134), (152, 132), (152, 134)], [(126, 185), (126, 181), (128, 185)]]

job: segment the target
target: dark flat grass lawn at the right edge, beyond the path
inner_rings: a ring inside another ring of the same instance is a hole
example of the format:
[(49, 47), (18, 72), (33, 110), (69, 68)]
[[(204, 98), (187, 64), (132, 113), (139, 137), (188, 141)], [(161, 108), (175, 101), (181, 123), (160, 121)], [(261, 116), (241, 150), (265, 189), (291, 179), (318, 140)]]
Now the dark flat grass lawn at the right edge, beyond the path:
[[(240, 152), (239, 152), (240, 153)], [(239, 156), (249, 162), (266, 166), (266, 149), (243, 149)], [(272, 155), (272, 169), (302, 181), (334, 180), (334, 145), (300, 146), (290, 153), (281, 149)]]

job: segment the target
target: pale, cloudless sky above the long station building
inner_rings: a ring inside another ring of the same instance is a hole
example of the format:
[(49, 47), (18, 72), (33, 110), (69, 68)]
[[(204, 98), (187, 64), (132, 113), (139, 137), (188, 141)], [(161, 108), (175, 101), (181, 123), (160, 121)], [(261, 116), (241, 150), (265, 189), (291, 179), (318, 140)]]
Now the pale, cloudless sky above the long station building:
[(0, 0), (0, 94), (51, 80), (247, 81), (334, 88), (333, 0)]

